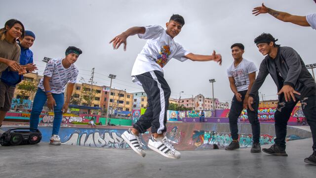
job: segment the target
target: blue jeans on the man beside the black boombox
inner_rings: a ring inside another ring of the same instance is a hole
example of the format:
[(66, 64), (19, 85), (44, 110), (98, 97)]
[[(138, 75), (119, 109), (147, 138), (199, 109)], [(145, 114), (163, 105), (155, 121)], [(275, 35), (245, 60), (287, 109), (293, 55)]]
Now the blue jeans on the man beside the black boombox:
[[(52, 93), (53, 98), (55, 99), (56, 106), (54, 106), (54, 122), (53, 122), (53, 133), (58, 134), (61, 121), (63, 119), (62, 108), (64, 105), (64, 93), (55, 94)], [(33, 101), (33, 108), (31, 111), (30, 117), (30, 128), (37, 129), (39, 126), (40, 121), (40, 113), (43, 109), (43, 106), (47, 100), (46, 93), (42, 91), (40, 88), (36, 92), (34, 101)]]

